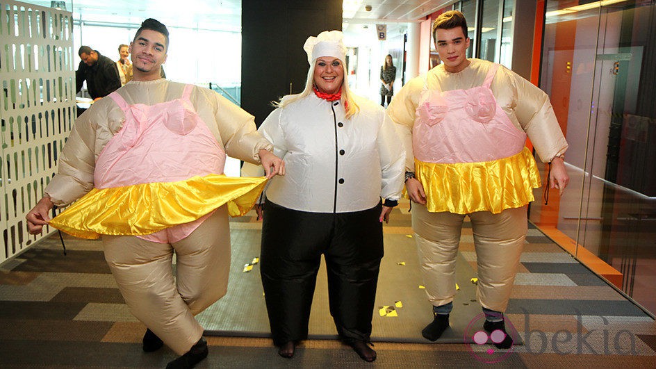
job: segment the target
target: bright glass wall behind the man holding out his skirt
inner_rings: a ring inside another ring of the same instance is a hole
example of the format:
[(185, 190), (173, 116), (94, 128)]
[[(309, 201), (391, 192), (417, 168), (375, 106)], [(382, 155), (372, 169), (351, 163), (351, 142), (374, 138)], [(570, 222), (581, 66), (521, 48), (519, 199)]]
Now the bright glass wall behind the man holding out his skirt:
[(112, 60), (118, 46), (130, 44), (140, 23), (153, 17), (170, 31), (170, 49), (164, 69), (167, 79), (198, 85), (220, 86), (238, 99), (241, 85), (241, 1), (223, 1), (221, 6), (195, 2), (195, 12), (179, 12), (179, 3), (163, 0), (123, 5), (74, 1), (28, 1), (72, 11), (74, 19), (74, 67), (77, 50), (88, 45)]

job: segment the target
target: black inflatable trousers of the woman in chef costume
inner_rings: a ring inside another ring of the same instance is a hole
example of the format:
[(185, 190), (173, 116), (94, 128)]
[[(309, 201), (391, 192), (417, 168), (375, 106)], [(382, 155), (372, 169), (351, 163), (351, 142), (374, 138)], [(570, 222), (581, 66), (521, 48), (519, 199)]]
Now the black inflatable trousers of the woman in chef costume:
[(265, 204), (260, 268), (275, 345), (307, 338), (322, 254), (337, 333), (369, 341), (383, 257), (381, 208), (309, 213)]

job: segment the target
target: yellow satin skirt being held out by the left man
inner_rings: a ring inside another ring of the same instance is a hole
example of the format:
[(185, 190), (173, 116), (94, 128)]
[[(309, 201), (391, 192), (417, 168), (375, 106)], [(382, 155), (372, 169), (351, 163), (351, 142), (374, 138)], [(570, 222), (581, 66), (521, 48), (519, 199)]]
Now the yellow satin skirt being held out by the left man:
[(142, 236), (193, 222), (226, 205), (238, 217), (257, 201), (265, 177), (209, 174), (185, 181), (94, 188), (50, 221), (72, 236), (95, 239), (101, 234)]

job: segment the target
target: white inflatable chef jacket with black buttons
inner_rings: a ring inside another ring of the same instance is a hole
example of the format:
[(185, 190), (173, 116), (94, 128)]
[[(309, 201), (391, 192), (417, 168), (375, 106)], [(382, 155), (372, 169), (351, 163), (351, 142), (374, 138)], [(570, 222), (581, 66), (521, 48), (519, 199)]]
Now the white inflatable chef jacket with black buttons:
[[(381, 106), (354, 99), (360, 111), (349, 119), (342, 101), (314, 94), (266, 118), (258, 131), (286, 167), (284, 176), (270, 181), (270, 201), (298, 211), (344, 213), (372, 208), (380, 197), (400, 198), (405, 154), (395, 124)], [(245, 164), (243, 174), (258, 173)]]

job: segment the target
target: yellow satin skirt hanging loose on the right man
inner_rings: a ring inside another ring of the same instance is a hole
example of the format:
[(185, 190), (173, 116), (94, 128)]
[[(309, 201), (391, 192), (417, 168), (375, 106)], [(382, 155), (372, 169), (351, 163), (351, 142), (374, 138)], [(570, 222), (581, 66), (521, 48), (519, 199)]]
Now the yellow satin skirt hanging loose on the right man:
[(415, 170), (432, 213), (497, 214), (532, 202), (533, 189), (541, 187), (538, 167), (526, 147), (514, 156), (480, 163), (437, 164), (415, 159)]

